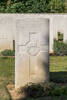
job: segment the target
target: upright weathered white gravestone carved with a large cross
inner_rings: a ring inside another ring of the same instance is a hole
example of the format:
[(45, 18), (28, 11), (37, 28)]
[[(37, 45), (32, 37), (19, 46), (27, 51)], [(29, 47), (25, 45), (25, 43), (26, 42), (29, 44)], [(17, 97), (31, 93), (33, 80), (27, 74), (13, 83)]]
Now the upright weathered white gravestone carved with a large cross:
[(15, 87), (49, 81), (49, 20), (22, 18), (16, 23)]

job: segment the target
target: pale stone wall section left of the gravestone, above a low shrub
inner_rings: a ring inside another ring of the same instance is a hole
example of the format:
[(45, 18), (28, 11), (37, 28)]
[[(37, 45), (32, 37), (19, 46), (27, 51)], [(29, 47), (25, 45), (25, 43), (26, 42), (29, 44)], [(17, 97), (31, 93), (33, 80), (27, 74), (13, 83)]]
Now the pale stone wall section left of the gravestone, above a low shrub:
[(0, 15), (0, 51), (5, 49), (13, 49), (13, 18)]

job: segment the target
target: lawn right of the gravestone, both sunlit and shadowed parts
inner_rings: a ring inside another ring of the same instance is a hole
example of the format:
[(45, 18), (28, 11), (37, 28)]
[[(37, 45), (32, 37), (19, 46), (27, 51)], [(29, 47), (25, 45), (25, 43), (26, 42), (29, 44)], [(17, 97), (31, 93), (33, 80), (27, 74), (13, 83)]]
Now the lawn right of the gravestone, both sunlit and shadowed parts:
[(67, 56), (50, 57), (50, 80), (67, 83)]

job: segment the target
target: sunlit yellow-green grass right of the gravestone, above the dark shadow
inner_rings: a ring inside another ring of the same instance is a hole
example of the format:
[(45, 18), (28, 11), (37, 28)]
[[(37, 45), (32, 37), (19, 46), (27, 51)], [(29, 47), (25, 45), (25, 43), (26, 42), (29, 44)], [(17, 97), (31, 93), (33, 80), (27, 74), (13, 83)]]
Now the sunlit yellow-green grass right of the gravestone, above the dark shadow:
[(67, 56), (51, 56), (50, 72), (67, 72)]

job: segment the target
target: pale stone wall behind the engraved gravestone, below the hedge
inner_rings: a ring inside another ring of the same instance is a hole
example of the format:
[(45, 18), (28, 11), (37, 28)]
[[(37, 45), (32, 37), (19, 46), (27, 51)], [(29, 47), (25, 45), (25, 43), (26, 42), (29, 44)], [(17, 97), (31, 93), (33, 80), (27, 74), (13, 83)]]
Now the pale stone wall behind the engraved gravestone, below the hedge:
[[(0, 14), (0, 51), (13, 49), (13, 40), (16, 34), (16, 20), (30, 18), (31, 16), (48, 18), (50, 20), (49, 52), (53, 52), (53, 39), (57, 38), (57, 32), (64, 33), (64, 42), (67, 42), (67, 15), (66, 14)], [(7, 39), (4, 37), (7, 37)]]

